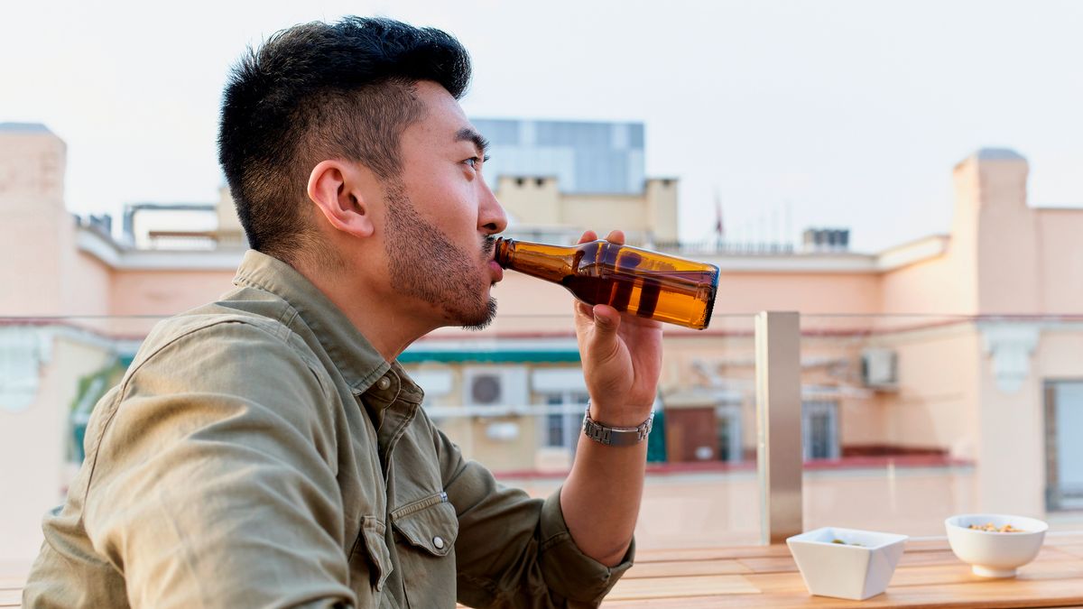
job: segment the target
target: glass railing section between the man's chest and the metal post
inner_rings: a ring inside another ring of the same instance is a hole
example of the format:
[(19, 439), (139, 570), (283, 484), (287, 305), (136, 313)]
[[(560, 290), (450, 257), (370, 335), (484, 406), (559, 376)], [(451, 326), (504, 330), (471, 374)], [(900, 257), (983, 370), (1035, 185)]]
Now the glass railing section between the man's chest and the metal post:
[[(570, 315), (442, 329), (401, 360), (468, 457), (534, 496), (563, 483), (588, 399)], [(663, 360), (639, 547), (756, 543), (754, 318), (719, 315), (703, 332), (667, 326)]]

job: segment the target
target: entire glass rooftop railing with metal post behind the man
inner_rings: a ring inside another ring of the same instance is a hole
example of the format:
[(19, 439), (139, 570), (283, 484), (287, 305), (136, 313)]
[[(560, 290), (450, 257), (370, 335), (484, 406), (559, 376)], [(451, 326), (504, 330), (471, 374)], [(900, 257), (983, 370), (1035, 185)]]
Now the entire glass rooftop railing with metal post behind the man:
[[(94, 404), (158, 320), (0, 319), (0, 488), (19, 490), (0, 505), (0, 560), (37, 552)], [(570, 328), (500, 315), (400, 361), (468, 456), (542, 496), (567, 472), (587, 400)], [(1081, 347), (1073, 315), (762, 312), (667, 328), (638, 543), (767, 543), (825, 524), (934, 535), (979, 510), (1075, 529)]]

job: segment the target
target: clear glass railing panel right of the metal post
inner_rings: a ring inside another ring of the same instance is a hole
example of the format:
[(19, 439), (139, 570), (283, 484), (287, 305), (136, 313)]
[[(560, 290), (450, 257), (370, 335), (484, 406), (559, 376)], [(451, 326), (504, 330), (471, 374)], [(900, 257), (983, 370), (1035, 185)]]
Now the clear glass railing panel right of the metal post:
[(1083, 319), (805, 315), (805, 527), (1083, 524)]

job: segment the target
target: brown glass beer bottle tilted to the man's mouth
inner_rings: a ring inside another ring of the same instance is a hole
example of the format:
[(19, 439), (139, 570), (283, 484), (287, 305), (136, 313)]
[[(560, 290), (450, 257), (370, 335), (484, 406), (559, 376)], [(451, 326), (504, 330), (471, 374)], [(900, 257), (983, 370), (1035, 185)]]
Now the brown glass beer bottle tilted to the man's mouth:
[(573, 247), (496, 239), (496, 262), (559, 283), (587, 304), (703, 329), (710, 323), (718, 267), (608, 241)]

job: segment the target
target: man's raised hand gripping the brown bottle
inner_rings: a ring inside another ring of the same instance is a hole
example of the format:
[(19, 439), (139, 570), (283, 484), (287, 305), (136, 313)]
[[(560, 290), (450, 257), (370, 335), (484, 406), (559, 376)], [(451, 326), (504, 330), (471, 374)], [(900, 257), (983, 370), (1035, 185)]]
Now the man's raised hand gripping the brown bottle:
[[(579, 243), (598, 238), (583, 233)], [(606, 241), (624, 244), (613, 231)], [(575, 302), (575, 335), (590, 393), (590, 418), (611, 427), (636, 427), (647, 419), (662, 372), (662, 324), (621, 314), (608, 304)]]

